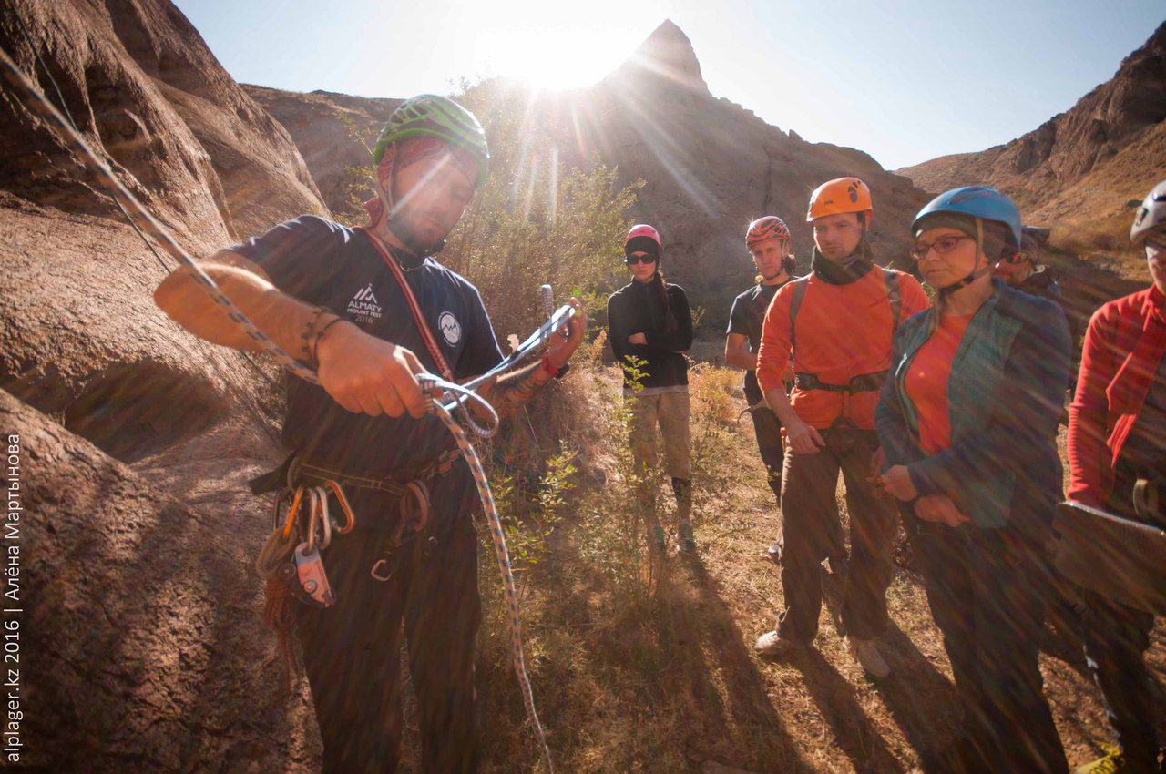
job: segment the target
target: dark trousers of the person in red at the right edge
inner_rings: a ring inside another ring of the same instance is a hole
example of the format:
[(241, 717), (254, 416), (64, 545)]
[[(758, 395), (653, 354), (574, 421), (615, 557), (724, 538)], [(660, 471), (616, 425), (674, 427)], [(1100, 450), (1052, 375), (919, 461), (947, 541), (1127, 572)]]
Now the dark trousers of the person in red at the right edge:
[[(1136, 519), (1132, 490), (1137, 474), (1124, 464), (1116, 473), (1109, 508), (1119, 516)], [(1105, 699), (1105, 715), (1117, 744), (1131, 772), (1157, 772), (1154, 706), (1145, 662), (1154, 617), (1086, 589), (1081, 599), (1086, 661)]]

